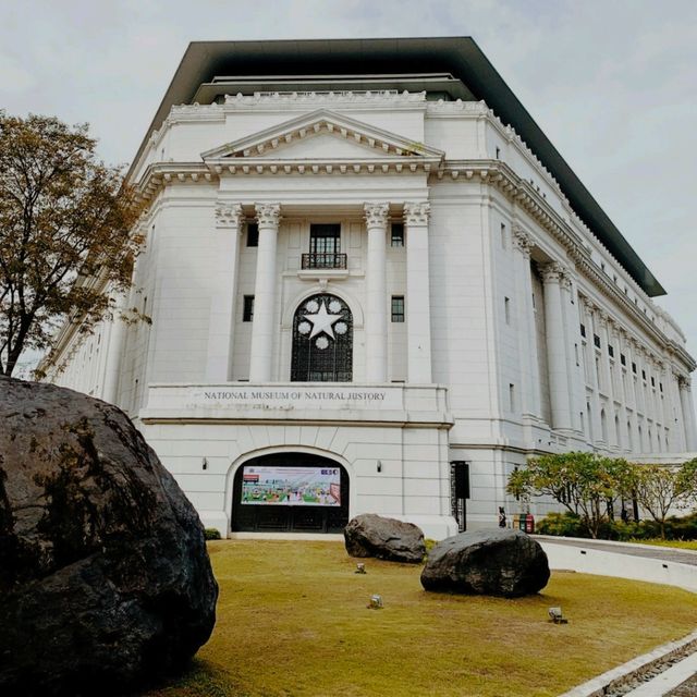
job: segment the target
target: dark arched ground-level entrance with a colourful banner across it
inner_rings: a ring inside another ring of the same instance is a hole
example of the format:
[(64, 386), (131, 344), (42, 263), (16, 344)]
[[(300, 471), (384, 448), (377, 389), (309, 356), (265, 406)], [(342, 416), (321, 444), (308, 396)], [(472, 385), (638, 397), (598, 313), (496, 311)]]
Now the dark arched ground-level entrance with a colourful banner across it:
[(329, 457), (273, 453), (235, 473), (233, 531), (341, 533), (346, 523), (348, 474)]

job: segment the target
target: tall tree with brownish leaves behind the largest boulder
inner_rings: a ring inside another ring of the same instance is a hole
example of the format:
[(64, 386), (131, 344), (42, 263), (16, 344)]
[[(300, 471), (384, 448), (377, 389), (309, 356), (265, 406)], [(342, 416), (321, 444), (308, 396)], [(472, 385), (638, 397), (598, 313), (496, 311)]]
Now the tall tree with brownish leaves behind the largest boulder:
[(90, 331), (131, 285), (140, 204), (95, 145), (87, 125), (0, 111), (0, 374), (66, 318)]

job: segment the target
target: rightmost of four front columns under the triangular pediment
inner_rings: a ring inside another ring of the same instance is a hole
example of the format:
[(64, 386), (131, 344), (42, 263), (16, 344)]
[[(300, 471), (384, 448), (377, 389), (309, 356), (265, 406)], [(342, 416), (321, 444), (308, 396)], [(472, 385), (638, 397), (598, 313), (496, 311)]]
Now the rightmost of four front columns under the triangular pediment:
[(404, 204), (406, 228), (407, 381), (431, 382), (431, 299), (428, 262), (430, 204)]

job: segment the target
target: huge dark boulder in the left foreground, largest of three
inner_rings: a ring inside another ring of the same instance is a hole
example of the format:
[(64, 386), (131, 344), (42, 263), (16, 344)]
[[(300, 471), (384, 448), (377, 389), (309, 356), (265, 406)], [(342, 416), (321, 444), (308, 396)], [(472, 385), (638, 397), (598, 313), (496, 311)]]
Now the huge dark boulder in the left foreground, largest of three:
[(0, 695), (181, 669), (217, 598), (198, 515), (125, 414), (0, 377)]

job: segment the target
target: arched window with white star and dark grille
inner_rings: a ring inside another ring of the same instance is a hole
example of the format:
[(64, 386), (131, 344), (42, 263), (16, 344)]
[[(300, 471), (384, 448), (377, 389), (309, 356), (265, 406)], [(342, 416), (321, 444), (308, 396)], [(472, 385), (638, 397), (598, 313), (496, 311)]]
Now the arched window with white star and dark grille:
[(330, 293), (306, 298), (293, 318), (293, 382), (351, 382), (353, 316)]

